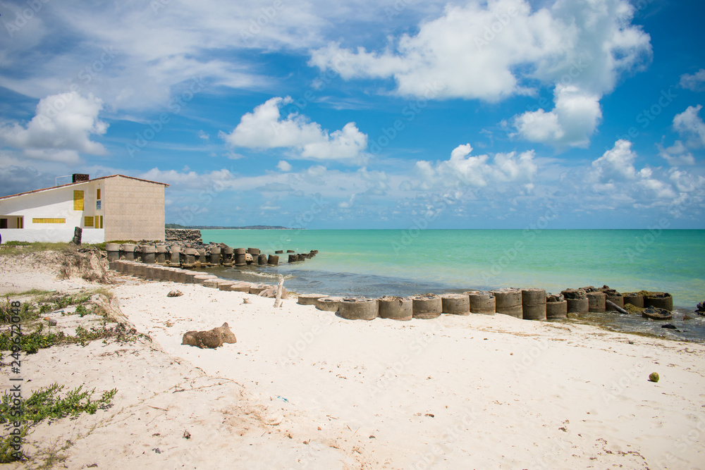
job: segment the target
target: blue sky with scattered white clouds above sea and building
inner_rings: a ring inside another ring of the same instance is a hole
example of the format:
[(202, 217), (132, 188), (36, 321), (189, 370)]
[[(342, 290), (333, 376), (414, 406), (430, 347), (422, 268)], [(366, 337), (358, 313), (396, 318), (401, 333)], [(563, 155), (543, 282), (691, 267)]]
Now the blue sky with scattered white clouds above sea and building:
[[(0, 195), (166, 220), (705, 228), (698, 1), (0, 1)], [(59, 178), (66, 183), (67, 178)]]

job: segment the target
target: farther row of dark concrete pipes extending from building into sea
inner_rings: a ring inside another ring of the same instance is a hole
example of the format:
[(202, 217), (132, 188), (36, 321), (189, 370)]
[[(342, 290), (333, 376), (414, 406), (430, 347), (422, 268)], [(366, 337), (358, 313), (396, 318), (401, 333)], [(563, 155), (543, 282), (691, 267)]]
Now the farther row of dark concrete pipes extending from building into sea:
[[(183, 248), (180, 245), (133, 245), (130, 243), (106, 243), (109, 261), (124, 259), (127, 261), (142, 261), (147, 264), (163, 264), (168, 266), (183, 266), (185, 268), (209, 266), (278, 266), (278, 250), (269, 256), (260, 252), (259, 248), (231, 248), (221, 245), (207, 245), (202, 249)], [(305, 261), (316, 256), (318, 250), (309, 253), (295, 253), (287, 250), (288, 262)]]

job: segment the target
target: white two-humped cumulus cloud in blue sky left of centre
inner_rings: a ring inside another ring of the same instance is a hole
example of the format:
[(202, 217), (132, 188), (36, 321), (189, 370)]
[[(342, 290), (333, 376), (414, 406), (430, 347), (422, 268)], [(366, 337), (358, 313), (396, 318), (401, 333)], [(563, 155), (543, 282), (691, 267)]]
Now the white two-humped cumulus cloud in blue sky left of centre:
[(367, 135), (360, 132), (355, 123), (329, 133), (300, 114), (291, 113), (282, 118), (281, 107), (292, 101), (291, 97), (267, 100), (252, 113), (245, 113), (233, 132), (221, 132), (221, 138), (233, 147), (296, 149), (300, 159), (364, 161)]

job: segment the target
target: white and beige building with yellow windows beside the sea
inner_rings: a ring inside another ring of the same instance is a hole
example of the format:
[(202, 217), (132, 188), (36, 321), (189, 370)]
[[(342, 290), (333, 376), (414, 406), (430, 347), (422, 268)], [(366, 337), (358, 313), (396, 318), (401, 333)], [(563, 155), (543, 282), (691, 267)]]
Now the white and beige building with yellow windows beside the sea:
[(0, 197), (3, 242), (164, 240), (165, 183), (111, 175)]

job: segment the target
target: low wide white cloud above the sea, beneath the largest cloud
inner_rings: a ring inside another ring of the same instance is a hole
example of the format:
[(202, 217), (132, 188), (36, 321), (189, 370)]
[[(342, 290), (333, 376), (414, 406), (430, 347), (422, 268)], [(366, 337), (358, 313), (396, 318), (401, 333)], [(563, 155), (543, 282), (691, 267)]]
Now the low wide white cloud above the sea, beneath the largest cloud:
[(491, 183), (530, 183), (537, 173), (534, 151), (522, 154), (470, 155), (472, 146), (463, 144), (450, 152), (450, 159), (417, 161), (416, 169), (423, 189), (450, 187), (461, 183), (471, 187), (486, 187)]

